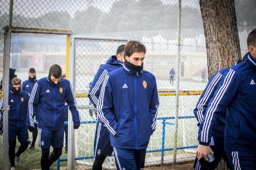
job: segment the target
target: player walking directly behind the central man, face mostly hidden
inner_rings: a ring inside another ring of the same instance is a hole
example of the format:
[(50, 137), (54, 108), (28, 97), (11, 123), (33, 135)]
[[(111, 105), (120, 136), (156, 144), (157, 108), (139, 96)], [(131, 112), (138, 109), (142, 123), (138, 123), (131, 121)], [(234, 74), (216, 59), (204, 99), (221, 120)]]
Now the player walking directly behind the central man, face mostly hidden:
[[(124, 64), (124, 44), (118, 46), (116, 55), (112, 55), (106, 62), (100, 66), (97, 74), (92, 81), (88, 97), (92, 102), (93, 106), (97, 109), (98, 99), (100, 96), (100, 89), (102, 86), (105, 75), (109, 72), (120, 68)], [(107, 128), (102, 124), (102, 121), (98, 118), (96, 125), (96, 133), (94, 138), (94, 163), (92, 166), (93, 170), (102, 169), (102, 164), (106, 159), (107, 155), (110, 156), (113, 152), (113, 147), (110, 145), (109, 132)]]

